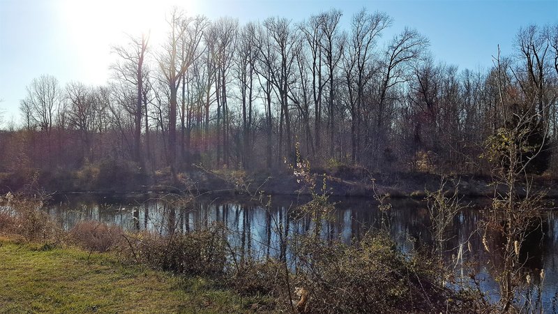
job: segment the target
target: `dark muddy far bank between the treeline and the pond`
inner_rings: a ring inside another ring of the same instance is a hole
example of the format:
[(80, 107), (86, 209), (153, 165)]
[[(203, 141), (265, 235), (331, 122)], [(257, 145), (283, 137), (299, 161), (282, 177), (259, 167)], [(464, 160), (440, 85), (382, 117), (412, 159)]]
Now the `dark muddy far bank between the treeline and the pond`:
[[(324, 184), (325, 177), (325, 184)], [(442, 177), (437, 174), (425, 173), (392, 173), (372, 174), (374, 181), (368, 177), (338, 176), (330, 174), (316, 174), (315, 193), (325, 193), (335, 197), (374, 197), (375, 194), (389, 193), (392, 198), (417, 198), (422, 199), (426, 191), (437, 190)], [(91, 188), (77, 184), (56, 184), (51, 182), (43, 185), (47, 193), (59, 194), (192, 194), (192, 195), (311, 195), (312, 188), (308, 184), (299, 182), (298, 177), (292, 174), (256, 174), (246, 175), (241, 179), (230, 179), (220, 174), (210, 172), (190, 172), (181, 174), (179, 184), (171, 184), (167, 179), (149, 178), (143, 182), (119, 186), (109, 184), (106, 188)], [(490, 177), (462, 175), (444, 177), (445, 188), (449, 191), (458, 188), (462, 197), (492, 197), (495, 195), (495, 186), (491, 184)], [(538, 177), (534, 180), (532, 191), (545, 191), (546, 197), (558, 198), (558, 181)], [(526, 189), (520, 187), (519, 195), (525, 195)]]

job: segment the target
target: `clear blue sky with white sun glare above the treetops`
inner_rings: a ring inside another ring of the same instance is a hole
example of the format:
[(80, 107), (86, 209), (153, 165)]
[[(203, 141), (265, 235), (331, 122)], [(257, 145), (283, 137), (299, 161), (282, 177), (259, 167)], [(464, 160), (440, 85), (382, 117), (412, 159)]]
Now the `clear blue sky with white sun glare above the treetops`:
[[(391, 38), (403, 27), (430, 39), (436, 59), (460, 69), (488, 68), (500, 45), (513, 52), (520, 27), (558, 22), (553, 1), (318, 1), (318, 0), (0, 0), (0, 110), (4, 121), (19, 120), (18, 104), (33, 77), (51, 74), (61, 84), (72, 80), (103, 84), (110, 77), (110, 46), (151, 29), (153, 43), (163, 37), (165, 12), (172, 5), (212, 19), (264, 20), (278, 15), (294, 22), (329, 8), (342, 10), (342, 22), (360, 8), (393, 17)], [(138, 18), (139, 17), (139, 18)]]

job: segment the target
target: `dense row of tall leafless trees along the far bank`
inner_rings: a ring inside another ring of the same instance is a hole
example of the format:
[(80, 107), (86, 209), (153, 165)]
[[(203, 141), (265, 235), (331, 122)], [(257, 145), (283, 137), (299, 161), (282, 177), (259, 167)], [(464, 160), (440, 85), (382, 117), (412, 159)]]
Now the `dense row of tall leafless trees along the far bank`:
[(492, 68), (459, 70), (414, 29), (384, 38), (385, 13), (363, 9), (345, 29), (342, 18), (241, 25), (174, 9), (163, 46), (142, 36), (113, 47), (106, 86), (33, 80), (22, 127), (0, 133), (0, 170), (259, 170), (293, 162), (299, 147), (312, 165), (485, 173), (483, 142), (525, 113), (533, 144), (545, 143), (536, 171), (552, 165), (558, 25), (521, 28), (511, 56), (495, 50)]

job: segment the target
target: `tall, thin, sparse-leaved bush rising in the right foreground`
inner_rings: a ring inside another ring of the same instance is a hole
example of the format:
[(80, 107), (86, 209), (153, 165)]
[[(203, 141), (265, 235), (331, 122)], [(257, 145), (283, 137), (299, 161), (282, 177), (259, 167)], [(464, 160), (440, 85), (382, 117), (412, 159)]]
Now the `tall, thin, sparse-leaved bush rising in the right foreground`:
[[(505, 76), (506, 66), (499, 55), (495, 65)], [(485, 140), (482, 157), (491, 167), (494, 196), (482, 227), (490, 271), (499, 285), (497, 306), (505, 313), (519, 308), (520, 291), (530, 285), (525, 279), (522, 251), (529, 233), (541, 228), (541, 211), (546, 208), (546, 191), (533, 188), (533, 181), (534, 174), (542, 173), (548, 165), (550, 126), (543, 117), (550, 106), (534, 99), (511, 103), (502, 96), (503, 84), (503, 80), (498, 81), (499, 101), (510, 112), (504, 124)], [(493, 239), (487, 240), (487, 236)], [(540, 304), (528, 305), (526, 312), (542, 310)]]

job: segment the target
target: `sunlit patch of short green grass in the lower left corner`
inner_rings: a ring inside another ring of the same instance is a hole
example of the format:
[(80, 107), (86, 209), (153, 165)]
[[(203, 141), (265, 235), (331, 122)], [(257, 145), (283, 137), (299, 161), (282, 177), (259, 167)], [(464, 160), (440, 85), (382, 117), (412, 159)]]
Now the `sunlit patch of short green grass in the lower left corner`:
[(75, 248), (0, 238), (0, 313), (239, 313), (250, 304), (204, 278), (124, 266)]

